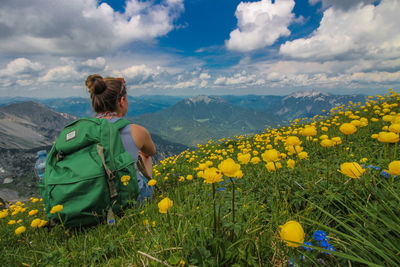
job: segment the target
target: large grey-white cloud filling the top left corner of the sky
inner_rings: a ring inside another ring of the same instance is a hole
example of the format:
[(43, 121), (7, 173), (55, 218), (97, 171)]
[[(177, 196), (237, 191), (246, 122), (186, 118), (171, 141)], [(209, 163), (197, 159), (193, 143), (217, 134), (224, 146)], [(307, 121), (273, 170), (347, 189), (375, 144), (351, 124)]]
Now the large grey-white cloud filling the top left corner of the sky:
[(127, 0), (124, 13), (96, 0), (5, 0), (0, 9), (3, 53), (95, 55), (174, 28), (183, 0)]

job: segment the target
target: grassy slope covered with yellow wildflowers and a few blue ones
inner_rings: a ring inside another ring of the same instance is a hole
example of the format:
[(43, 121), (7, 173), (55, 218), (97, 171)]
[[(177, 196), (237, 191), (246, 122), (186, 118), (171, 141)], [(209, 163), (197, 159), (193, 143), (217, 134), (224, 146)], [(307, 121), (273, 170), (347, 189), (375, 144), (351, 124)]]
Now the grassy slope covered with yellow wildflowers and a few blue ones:
[[(0, 207), (4, 266), (400, 266), (400, 95), (165, 159), (114, 225)], [(54, 213), (62, 206), (53, 207)]]

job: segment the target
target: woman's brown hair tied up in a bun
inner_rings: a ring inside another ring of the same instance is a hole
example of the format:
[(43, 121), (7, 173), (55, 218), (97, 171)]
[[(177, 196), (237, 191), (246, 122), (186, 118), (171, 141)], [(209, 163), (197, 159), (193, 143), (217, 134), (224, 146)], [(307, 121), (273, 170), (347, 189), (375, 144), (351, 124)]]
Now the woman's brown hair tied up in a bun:
[(92, 74), (87, 77), (85, 84), (96, 113), (116, 111), (118, 100), (126, 95), (125, 81), (122, 78), (103, 78), (99, 74)]

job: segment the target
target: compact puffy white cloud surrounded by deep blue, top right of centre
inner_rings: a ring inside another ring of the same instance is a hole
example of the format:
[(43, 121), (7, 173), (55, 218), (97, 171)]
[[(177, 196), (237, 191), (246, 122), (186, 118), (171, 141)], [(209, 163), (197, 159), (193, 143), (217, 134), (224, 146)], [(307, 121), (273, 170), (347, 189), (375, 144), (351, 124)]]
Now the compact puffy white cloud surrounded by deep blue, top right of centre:
[(272, 45), (281, 36), (290, 35), (288, 26), (294, 20), (294, 0), (241, 2), (235, 12), (238, 28), (230, 33), (226, 47), (248, 52)]

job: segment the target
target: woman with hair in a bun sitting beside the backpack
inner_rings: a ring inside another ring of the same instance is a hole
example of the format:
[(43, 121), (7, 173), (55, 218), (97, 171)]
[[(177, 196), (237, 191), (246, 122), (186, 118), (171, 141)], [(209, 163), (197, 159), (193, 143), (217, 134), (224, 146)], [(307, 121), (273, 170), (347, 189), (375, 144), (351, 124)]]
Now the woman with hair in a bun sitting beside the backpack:
[[(86, 79), (86, 87), (89, 89), (92, 100), (92, 108), (97, 113), (97, 118), (105, 118), (115, 122), (126, 115), (129, 108), (128, 94), (123, 78), (103, 78), (98, 74), (92, 74)], [(135, 162), (143, 163), (141, 171), (137, 169), (140, 195), (138, 201), (153, 195), (153, 189), (147, 185), (151, 178), (153, 163), (151, 156), (156, 153), (153, 140), (149, 132), (142, 126), (130, 124), (120, 130), (122, 143)]]

